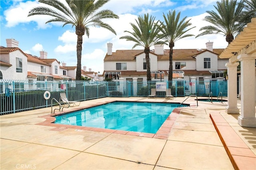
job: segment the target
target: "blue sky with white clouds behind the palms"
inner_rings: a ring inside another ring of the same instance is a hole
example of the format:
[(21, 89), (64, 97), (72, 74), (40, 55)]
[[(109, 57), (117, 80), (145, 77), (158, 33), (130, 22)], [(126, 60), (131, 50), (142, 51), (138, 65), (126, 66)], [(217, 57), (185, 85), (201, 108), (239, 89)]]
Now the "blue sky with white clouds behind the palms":
[[(112, 10), (120, 19), (105, 20), (117, 35), (103, 28), (90, 28), (90, 37), (83, 36), (82, 67), (86, 66), (100, 74), (104, 71), (103, 59), (107, 52), (107, 43), (113, 43), (113, 51), (131, 49), (133, 42), (120, 40), (126, 35), (124, 30), (131, 30), (130, 23), (140, 15), (149, 13), (156, 20), (163, 20), (163, 13), (169, 10), (181, 12), (181, 17), (191, 19), (192, 29), (189, 33), (198, 35), (202, 26), (208, 25), (202, 19), (206, 10), (214, 10), (216, 0), (111, 0), (103, 8)], [(25, 53), (40, 56), (39, 51), (48, 52), (48, 58), (56, 58), (67, 66), (76, 65), (76, 34), (71, 25), (62, 27), (62, 23), (48, 23), (49, 16), (27, 17), (28, 12), (42, 6), (34, 0), (0, 0), (0, 45), (6, 47), (6, 39), (14, 38)], [(222, 35), (208, 35), (199, 38), (190, 37), (178, 40), (174, 49), (206, 48), (206, 42), (214, 42), (214, 48), (226, 48), (228, 43)], [(152, 47), (153, 49), (154, 47)], [(164, 47), (168, 49), (168, 46)], [(143, 49), (143, 47), (136, 47)]]

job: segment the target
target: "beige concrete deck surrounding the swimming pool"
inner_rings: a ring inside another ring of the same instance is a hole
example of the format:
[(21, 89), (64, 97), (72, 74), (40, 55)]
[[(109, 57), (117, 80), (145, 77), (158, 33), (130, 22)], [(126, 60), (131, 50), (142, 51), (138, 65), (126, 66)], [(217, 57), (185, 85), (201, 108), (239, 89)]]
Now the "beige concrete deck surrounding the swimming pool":
[[(64, 111), (109, 101), (184, 99), (106, 97)], [(198, 101), (197, 107), (194, 99), (156, 134), (60, 126), (51, 123), (51, 108), (2, 115), (0, 169), (256, 169), (256, 128), (240, 127), (239, 115), (225, 112), (226, 102)]]

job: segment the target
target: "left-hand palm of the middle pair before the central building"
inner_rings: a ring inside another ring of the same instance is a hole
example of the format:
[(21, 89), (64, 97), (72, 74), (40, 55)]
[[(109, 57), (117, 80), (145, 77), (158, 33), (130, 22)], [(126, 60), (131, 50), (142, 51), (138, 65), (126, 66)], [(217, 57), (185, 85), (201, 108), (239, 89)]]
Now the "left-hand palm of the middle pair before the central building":
[(135, 42), (135, 45), (132, 47), (132, 49), (134, 49), (137, 46), (144, 47), (144, 53), (146, 54), (147, 81), (151, 81), (149, 62), (150, 47), (152, 47), (155, 44), (164, 43), (158, 41), (160, 40), (160, 30), (158, 29), (157, 25), (154, 24), (154, 20), (155, 17), (150, 16), (149, 18), (148, 14), (144, 14), (144, 18), (143, 16), (139, 16), (138, 20), (135, 20), (138, 26), (136, 26), (133, 23), (130, 23), (132, 26), (132, 30), (134, 32), (124, 31), (130, 33), (131, 35), (120, 37), (120, 39), (126, 39), (126, 41)]

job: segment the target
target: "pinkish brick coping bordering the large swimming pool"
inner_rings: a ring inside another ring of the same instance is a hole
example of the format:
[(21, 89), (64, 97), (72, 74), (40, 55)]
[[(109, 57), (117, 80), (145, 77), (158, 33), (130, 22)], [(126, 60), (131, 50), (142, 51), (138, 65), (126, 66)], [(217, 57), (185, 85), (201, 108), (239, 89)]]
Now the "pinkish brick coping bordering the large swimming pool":
[[(112, 103), (115, 101), (120, 102), (120, 100), (107, 101), (104, 103), (96, 103), (96, 104), (88, 105), (86, 107), (84, 107), (84, 106), (83, 107), (74, 107), (68, 111), (60, 111), (57, 113), (50, 113), (48, 115), (39, 116), (40, 118), (44, 118), (46, 120), (44, 122), (37, 123), (36, 125), (54, 127), (51, 130), (55, 130), (55, 131), (62, 131), (62, 130), (65, 130), (66, 128), (72, 128), (72, 129), (76, 129), (76, 130), (89, 130), (89, 131), (107, 132), (107, 133), (123, 134), (123, 135), (130, 135), (130, 136), (141, 136), (141, 137), (147, 137), (147, 138), (168, 139), (169, 134), (172, 130), (172, 126), (174, 125), (174, 123), (181, 111), (181, 108), (173, 109), (172, 113), (170, 113), (170, 115), (167, 117), (166, 121), (164, 121), (164, 123), (161, 125), (161, 127), (158, 129), (158, 131), (156, 133), (133, 132), (133, 131), (126, 131), (126, 130), (114, 130), (114, 129), (95, 128), (95, 127), (82, 127), (82, 126), (76, 126), (76, 125), (63, 125), (63, 124), (54, 123), (54, 121), (56, 120), (55, 117), (58, 115), (63, 115), (63, 114), (78, 111), (81, 109), (87, 109), (87, 108), (95, 107), (98, 105)], [(127, 102), (127, 101), (124, 101), (124, 102)], [(158, 102), (149, 102), (149, 103), (158, 103)], [(163, 103), (163, 102), (161, 102), (161, 103)], [(170, 102), (164, 102), (164, 103), (171, 104)]]

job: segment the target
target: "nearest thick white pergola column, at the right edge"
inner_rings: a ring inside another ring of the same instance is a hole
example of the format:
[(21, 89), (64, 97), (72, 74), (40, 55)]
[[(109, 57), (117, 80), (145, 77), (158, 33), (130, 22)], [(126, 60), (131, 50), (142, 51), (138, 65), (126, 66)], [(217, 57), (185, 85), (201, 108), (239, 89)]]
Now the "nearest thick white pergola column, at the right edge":
[(238, 55), (241, 61), (241, 115), (238, 124), (242, 127), (256, 127), (255, 118), (255, 59), (254, 54)]

